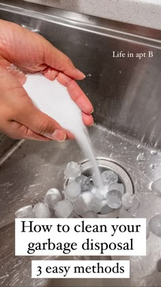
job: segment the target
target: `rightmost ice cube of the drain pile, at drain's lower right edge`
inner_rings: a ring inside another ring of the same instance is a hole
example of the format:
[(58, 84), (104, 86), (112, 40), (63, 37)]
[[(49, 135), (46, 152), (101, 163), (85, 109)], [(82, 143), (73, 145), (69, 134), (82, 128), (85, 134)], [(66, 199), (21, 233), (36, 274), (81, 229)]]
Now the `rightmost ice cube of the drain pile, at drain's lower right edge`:
[(128, 212), (132, 213), (138, 210), (140, 201), (135, 195), (127, 192), (122, 197), (122, 205), (126, 210), (128, 210)]

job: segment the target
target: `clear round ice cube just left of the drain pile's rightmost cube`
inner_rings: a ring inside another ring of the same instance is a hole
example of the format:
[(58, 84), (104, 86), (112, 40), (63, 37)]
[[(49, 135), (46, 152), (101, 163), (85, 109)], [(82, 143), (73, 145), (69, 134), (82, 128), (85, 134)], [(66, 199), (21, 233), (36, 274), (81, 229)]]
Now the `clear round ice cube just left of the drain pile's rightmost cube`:
[(110, 208), (119, 208), (121, 206), (122, 194), (118, 190), (110, 190), (107, 192), (106, 199)]

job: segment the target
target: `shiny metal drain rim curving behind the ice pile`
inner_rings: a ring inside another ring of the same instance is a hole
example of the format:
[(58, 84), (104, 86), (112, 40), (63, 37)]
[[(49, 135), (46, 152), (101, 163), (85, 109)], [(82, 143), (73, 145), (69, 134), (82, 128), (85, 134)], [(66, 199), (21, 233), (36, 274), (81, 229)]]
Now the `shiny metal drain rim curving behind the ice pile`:
[[(134, 188), (130, 176), (121, 166), (119, 166), (119, 164), (106, 160), (105, 158), (96, 158), (96, 160), (98, 162), (100, 173), (103, 173), (104, 171), (108, 170), (115, 171), (115, 173), (117, 173), (117, 176), (119, 177), (118, 182), (119, 184), (123, 184), (125, 192), (134, 193)], [(89, 178), (92, 177), (93, 170), (90, 161), (85, 160), (84, 162), (81, 162), (81, 166), (83, 169), (82, 174), (86, 175)]]

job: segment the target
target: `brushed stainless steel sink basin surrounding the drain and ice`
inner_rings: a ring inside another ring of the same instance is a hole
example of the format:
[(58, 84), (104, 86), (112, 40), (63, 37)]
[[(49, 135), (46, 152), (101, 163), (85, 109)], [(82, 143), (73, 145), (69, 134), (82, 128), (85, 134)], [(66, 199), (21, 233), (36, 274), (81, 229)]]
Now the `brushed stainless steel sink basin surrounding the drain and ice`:
[[(1, 1), (0, 16), (37, 29), (87, 75), (79, 84), (94, 106), (96, 156), (121, 166), (133, 192), (150, 199), (149, 183), (161, 176), (161, 32), (14, 0)], [(153, 58), (113, 58), (113, 51), (152, 51)], [(146, 160), (138, 162), (143, 152)], [(71, 160), (87, 160), (74, 141), (16, 142), (1, 157), (1, 286), (138, 286), (132, 279), (31, 279), (31, 259), (44, 258), (14, 256), (14, 212), (42, 201), (49, 188), (63, 190)], [(160, 212), (160, 198), (151, 204)], [(141, 286), (160, 286), (159, 275), (153, 285), (148, 280)]]

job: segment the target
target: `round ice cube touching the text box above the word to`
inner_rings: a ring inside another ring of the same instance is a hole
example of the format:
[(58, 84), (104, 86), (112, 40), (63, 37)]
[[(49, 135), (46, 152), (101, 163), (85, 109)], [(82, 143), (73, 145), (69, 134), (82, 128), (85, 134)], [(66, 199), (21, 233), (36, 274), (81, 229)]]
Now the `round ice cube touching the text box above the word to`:
[(72, 214), (73, 206), (70, 201), (63, 199), (55, 204), (55, 215), (60, 218), (68, 218)]

